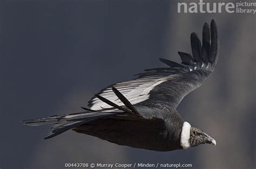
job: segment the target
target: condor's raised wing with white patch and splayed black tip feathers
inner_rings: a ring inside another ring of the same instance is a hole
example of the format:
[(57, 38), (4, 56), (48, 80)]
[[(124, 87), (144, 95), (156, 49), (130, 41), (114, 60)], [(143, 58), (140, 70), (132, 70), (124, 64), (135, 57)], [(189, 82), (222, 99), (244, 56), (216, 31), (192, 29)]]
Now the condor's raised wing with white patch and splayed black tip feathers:
[[(146, 69), (146, 72), (138, 74), (138, 78), (111, 85), (97, 95), (119, 106), (124, 105), (112, 91), (112, 87), (115, 87), (133, 105), (156, 107), (166, 104), (176, 108), (188, 93), (201, 86), (203, 81), (214, 71), (219, 51), (218, 31), (214, 20), (211, 22), (211, 28), (207, 23), (204, 24), (202, 44), (197, 34), (193, 32), (191, 34), (193, 56), (178, 52), (181, 64), (160, 58), (160, 61), (170, 67)], [(98, 97), (91, 98), (88, 103), (92, 110), (111, 108), (111, 105)]]

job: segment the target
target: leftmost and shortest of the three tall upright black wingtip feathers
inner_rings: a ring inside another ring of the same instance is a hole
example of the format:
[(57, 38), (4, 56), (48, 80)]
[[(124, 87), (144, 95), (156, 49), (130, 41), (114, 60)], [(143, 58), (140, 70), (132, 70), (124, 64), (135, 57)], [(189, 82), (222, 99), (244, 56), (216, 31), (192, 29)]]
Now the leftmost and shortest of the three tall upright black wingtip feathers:
[(201, 42), (197, 33), (191, 33), (190, 36), (192, 54), (195, 62), (201, 62)]

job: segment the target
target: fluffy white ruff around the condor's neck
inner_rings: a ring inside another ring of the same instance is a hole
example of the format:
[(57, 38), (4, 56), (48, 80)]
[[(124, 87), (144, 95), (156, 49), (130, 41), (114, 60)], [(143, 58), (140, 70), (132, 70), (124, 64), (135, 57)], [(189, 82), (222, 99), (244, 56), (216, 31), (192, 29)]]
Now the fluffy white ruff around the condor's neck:
[(184, 122), (180, 134), (180, 145), (183, 147), (183, 149), (188, 149), (190, 147), (190, 129), (190, 123)]

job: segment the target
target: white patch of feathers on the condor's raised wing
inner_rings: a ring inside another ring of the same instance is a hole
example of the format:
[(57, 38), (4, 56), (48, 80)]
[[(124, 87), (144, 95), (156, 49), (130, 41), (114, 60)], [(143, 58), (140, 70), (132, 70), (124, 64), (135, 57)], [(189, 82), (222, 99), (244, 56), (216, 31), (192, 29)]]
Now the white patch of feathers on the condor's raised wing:
[[(161, 83), (174, 78), (177, 75), (169, 75), (169, 76), (146, 76), (140, 79), (134, 79), (131, 81), (120, 82), (113, 85), (113, 87), (117, 88), (126, 98), (131, 102), (131, 104), (137, 104), (147, 100), (150, 96), (150, 91), (160, 85)], [(112, 86), (111, 86), (112, 87)], [(107, 100), (110, 100), (117, 105), (124, 105), (118, 97), (113, 93), (111, 87), (103, 90), (99, 95), (105, 97)], [(104, 103), (99, 100), (97, 97), (91, 100), (92, 110), (100, 110), (103, 108), (111, 108), (110, 105)]]

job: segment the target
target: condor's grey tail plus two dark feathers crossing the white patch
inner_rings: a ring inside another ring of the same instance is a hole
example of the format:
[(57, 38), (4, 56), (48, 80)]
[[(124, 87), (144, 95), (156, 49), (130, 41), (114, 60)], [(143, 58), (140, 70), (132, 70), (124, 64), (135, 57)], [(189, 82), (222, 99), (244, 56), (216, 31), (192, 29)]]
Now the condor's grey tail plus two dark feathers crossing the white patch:
[(63, 133), (69, 129), (75, 128), (76, 126), (95, 121), (99, 118), (104, 118), (107, 116), (112, 116), (116, 114), (122, 114), (124, 112), (131, 113), (136, 116), (141, 116), (139, 112), (133, 107), (133, 105), (121, 94), (116, 88), (112, 88), (117, 97), (125, 104), (126, 107), (120, 107), (119, 105), (107, 100), (106, 98), (96, 95), (103, 102), (111, 105), (113, 108), (102, 109), (102, 110), (91, 110), (81, 107), (85, 111), (78, 112), (75, 114), (68, 115), (55, 115), (46, 118), (29, 119), (21, 121), (24, 125), (28, 126), (38, 126), (44, 124), (55, 124), (52, 126), (50, 133), (45, 137), (45, 139), (55, 137), (60, 133)]

